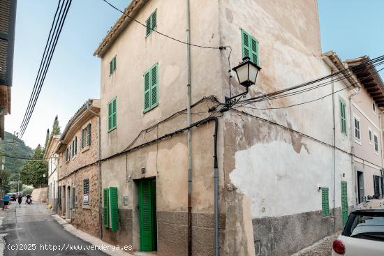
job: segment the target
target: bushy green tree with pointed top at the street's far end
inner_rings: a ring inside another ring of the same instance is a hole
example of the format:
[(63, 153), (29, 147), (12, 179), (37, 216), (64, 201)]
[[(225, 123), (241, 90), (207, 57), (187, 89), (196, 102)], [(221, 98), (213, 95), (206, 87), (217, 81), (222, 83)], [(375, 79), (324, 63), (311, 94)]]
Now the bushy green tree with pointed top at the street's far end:
[[(45, 177), (43, 177), (45, 174)], [(23, 184), (38, 186), (46, 186), (48, 184), (48, 164), (44, 160), (44, 150), (38, 144), (34, 150), (34, 154), (23, 165), (20, 178)]]

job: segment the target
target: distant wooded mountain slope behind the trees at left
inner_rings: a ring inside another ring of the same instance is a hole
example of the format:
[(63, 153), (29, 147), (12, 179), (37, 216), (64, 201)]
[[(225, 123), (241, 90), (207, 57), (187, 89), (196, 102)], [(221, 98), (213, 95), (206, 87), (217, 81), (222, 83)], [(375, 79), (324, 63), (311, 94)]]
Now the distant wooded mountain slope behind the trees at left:
[[(13, 134), (6, 132), (4, 140), (0, 140), (0, 154), (7, 156), (15, 156), (18, 158), (29, 158), (34, 151), (23, 140), (14, 137)], [(21, 172), (22, 165), (26, 160), (7, 158), (5, 170), (10, 170), (11, 174), (17, 174)]]

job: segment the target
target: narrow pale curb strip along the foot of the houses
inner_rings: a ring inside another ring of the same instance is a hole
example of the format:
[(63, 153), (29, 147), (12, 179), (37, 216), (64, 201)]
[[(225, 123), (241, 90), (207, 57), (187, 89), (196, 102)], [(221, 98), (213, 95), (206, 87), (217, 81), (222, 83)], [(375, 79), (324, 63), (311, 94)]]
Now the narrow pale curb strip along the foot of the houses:
[[(101, 239), (98, 239), (95, 236), (91, 236), (90, 234), (87, 234), (85, 232), (82, 232), (80, 229), (77, 229), (73, 227), (73, 225), (66, 222), (66, 220), (62, 219), (57, 214), (51, 215), (54, 220), (57, 221), (60, 225), (66, 229), (69, 233), (73, 234), (74, 236), (77, 236), (78, 238), (82, 239), (83, 241), (86, 241), (88, 243), (91, 243), (93, 246), (98, 246), (100, 248), (110, 246), (112, 247), (112, 244), (106, 243), (105, 241), (102, 241)], [(101, 249), (103, 253), (106, 253), (111, 256), (134, 256), (131, 253), (126, 253), (122, 250), (103, 250)]]

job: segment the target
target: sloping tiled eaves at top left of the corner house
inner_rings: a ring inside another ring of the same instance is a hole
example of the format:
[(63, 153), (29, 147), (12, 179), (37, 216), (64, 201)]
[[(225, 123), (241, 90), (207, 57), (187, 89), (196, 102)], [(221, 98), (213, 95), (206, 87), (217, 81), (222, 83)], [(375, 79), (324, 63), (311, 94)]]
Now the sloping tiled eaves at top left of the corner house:
[(108, 51), (108, 49), (111, 47), (111, 45), (119, 38), (121, 33), (123, 33), (124, 29), (130, 24), (133, 20), (128, 17), (135, 17), (138, 15), (140, 10), (142, 9), (142, 6), (145, 6), (145, 3), (147, 3), (149, 0), (133, 0), (131, 3), (124, 9), (124, 13), (126, 15), (121, 14), (119, 19), (115, 22), (115, 24), (111, 27), (111, 29), (108, 31), (107, 35), (101, 40), (100, 45), (98, 45), (97, 49), (94, 52), (94, 56), (96, 57), (103, 57), (105, 52)]

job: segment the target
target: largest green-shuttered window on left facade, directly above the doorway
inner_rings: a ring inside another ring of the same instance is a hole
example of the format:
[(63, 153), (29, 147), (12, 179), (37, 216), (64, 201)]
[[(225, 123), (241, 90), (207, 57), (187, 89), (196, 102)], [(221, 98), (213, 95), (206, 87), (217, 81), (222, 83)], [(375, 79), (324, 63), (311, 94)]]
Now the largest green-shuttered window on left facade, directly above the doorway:
[(144, 112), (158, 105), (158, 63), (149, 68), (144, 75)]

